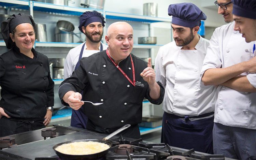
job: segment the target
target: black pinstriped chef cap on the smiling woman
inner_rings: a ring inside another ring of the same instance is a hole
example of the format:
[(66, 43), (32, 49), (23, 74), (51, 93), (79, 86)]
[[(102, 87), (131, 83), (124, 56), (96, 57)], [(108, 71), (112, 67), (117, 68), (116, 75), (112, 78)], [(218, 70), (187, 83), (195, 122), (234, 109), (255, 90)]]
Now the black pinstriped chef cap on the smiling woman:
[(10, 18), (6, 19), (1, 24), (1, 34), (3, 36), (3, 40), (5, 42), (5, 45), (8, 49), (11, 49), (14, 46), (14, 42), (12, 41), (10, 37), (10, 33), (13, 32), (13, 30), (22, 23), (29, 23), (33, 26), (34, 31), (36, 32), (35, 28), (35, 22), (33, 20), (33, 17), (31, 15), (27, 14), (13, 14)]

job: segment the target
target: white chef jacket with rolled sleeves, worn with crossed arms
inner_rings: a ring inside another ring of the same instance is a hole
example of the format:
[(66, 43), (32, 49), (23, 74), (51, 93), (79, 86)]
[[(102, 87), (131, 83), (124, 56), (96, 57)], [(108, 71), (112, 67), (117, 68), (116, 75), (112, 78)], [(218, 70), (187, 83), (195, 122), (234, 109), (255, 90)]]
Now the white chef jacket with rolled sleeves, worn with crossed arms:
[[(218, 27), (213, 32), (201, 77), (210, 68), (225, 68), (250, 59), (253, 42), (246, 43), (242, 35), (233, 28), (234, 22)], [(248, 76), (250, 73), (241, 75)], [(255, 84), (255, 81), (256, 78), (250, 79), (251, 83)], [(239, 92), (218, 86), (214, 122), (226, 126), (256, 129), (256, 93)]]

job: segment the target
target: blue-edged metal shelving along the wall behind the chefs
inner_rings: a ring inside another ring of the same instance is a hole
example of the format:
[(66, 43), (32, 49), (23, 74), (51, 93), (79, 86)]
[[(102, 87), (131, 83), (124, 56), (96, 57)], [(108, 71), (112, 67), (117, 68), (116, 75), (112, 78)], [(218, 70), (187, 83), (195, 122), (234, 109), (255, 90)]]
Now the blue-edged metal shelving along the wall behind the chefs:
[[(95, 10), (95, 9), (56, 5), (56, 4), (51, 4), (51, 3), (36, 2), (36, 1), (30, 1), (30, 0), (1, 0), (0, 6), (5, 6), (6, 9), (16, 8), (16, 9), (29, 10), (30, 15), (32, 15), (32, 16), (34, 14), (34, 11), (46, 12), (49, 14), (50, 13), (58, 13), (58, 14), (79, 16), (86, 11)], [(106, 19), (136, 21), (136, 22), (141, 22), (141, 23), (147, 23), (148, 25), (150, 25), (151, 23), (156, 23), (156, 22), (168, 22), (168, 23), (171, 22), (171, 18), (151, 17), (151, 16), (126, 14), (126, 13), (116, 13), (116, 12), (109, 12), (109, 11), (104, 11), (104, 10), (97, 10), (97, 11), (102, 13)], [(106, 28), (104, 28), (104, 33), (106, 33)], [(150, 32), (149, 32), (149, 36), (150, 36)], [(69, 48), (73, 48), (80, 44), (81, 43), (35, 42), (35, 47), (66, 47), (66, 48), (69, 47)], [(4, 41), (0, 41), (0, 46), (5, 46)], [(145, 48), (145, 49), (151, 50), (152, 48), (159, 48), (160, 46), (162, 46), (162, 45), (134, 44), (133, 48)], [(149, 54), (149, 55), (151, 55), (151, 54)], [(63, 81), (63, 79), (54, 80), (56, 85), (59, 85), (62, 81)], [(143, 103), (149, 103), (149, 102), (145, 101)], [(55, 118), (53, 116), (53, 120), (51, 123), (56, 123), (61, 120), (69, 120), (70, 118), (71, 118), (70, 115), (63, 116), (63, 117), (55, 117)], [(161, 130), (161, 126), (156, 127), (156, 128), (140, 127), (140, 130), (141, 130), (141, 135), (143, 135), (143, 134), (151, 133), (151, 132), (154, 132), (157, 130)]]

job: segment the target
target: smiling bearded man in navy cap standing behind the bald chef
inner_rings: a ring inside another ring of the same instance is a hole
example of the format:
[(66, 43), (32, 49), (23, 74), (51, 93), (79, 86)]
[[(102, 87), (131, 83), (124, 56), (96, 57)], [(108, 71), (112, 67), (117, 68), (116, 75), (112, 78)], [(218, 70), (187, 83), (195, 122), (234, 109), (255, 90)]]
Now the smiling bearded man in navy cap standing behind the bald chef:
[[(79, 66), (82, 57), (89, 57), (108, 48), (101, 42), (104, 17), (97, 11), (87, 11), (80, 16), (79, 30), (86, 35), (86, 42), (71, 49), (64, 64), (64, 79), (70, 77), (73, 71)], [(72, 110), (71, 126), (86, 128), (87, 117), (81, 110)]]

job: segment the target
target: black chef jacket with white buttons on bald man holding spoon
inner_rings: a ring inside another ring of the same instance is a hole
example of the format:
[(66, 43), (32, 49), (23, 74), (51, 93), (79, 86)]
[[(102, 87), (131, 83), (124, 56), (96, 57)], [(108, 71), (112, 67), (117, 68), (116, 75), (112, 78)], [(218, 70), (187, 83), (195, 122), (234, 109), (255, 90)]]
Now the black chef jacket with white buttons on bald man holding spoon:
[[(114, 66), (106, 55), (106, 50), (103, 50), (82, 58), (80, 67), (73, 72), (71, 77), (61, 83), (59, 96), (62, 104), (68, 105), (62, 100), (66, 92), (83, 91), (82, 100), (103, 102), (98, 106), (85, 103), (80, 108), (94, 125), (103, 128), (119, 128), (126, 124), (141, 123), (144, 97), (153, 104), (161, 104), (165, 90), (158, 83), (160, 98), (152, 100), (148, 84), (140, 76), (140, 73), (147, 67), (147, 63), (133, 54), (131, 57), (135, 68), (135, 87)], [(120, 61), (118, 66), (132, 80), (130, 56)]]

